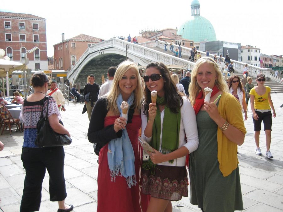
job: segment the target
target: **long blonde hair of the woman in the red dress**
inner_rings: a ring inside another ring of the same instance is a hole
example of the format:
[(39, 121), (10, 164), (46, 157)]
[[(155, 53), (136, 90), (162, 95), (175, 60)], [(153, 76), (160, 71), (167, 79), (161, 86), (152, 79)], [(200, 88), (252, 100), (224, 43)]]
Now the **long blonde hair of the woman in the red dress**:
[(141, 85), (141, 76), (139, 73), (139, 69), (136, 66), (135, 63), (130, 62), (130, 61), (124, 61), (123, 63), (121, 63), (114, 75), (114, 79), (113, 79), (113, 83), (111, 86), (111, 89), (108, 92), (107, 95), (107, 100), (108, 100), (108, 106), (107, 109), (112, 111), (114, 114), (119, 114), (119, 110), (116, 104), (116, 100), (118, 98), (118, 95), (120, 94), (120, 88), (119, 88), (119, 81), (122, 79), (122, 77), (124, 76), (124, 74), (130, 69), (130, 68), (134, 68), (136, 71), (136, 78), (137, 78), (137, 84), (136, 84), (136, 89), (134, 90), (134, 102), (132, 107), (137, 109), (138, 111), (141, 110), (141, 106), (142, 106), (142, 85)]

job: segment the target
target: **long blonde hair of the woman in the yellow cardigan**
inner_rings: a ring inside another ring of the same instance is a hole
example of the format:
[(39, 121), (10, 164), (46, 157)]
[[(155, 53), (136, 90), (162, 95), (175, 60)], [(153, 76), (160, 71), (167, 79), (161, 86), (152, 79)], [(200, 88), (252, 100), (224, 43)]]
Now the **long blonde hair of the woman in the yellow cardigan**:
[(194, 66), (194, 68), (191, 72), (191, 83), (190, 83), (190, 86), (189, 86), (189, 94), (190, 94), (189, 98), (190, 98), (192, 105), (195, 104), (196, 98), (197, 98), (197, 95), (199, 94), (199, 92), (202, 92), (201, 87), (197, 84), (197, 71), (198, 71), (198, 68), (201, 67), (204, 63), (208, 63), (208, 64), (211, 64), (213, 66), (213, 68), (216, 72), (216, 80), (215, 80), (216, 87), (220, 91), (228, 93), (227, 83), (225, 82), (217, 63), (210, 57), (202, 57), (201, 59), (197, 60), (197, 63), (195, 64), (195, 66)]

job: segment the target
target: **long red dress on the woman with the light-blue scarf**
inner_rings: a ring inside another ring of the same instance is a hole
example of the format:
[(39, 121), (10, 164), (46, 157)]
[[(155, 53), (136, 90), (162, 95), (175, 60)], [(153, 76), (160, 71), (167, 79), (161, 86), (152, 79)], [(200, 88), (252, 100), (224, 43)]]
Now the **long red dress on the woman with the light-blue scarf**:
[[(114, 124), (114, 121), (119, 116), (108, 116), (104, 119), (104, 127)], [(135, 154), (135, 171), (136, 171), (136, 186), (128, 187), (125, 177), (118, 176), (115, 182), (111, 182), (110, 170), (108, 167), (107, 151), (108, 144), (106, 144), (99, 152), (99, 166), (98, 166), (98, 193), (97, 193), (97, 212), (140, 212), (139, 204), (139, 164), (138, 154), (140, 145), (138, 144), (139, 128), (142, 120), (140, 115), (134, 115), (132, 123), (126, 126), (131, 144)], [(141, 158), (142, 162), (142, 158)], [(147, 211), (149, 196), (142, 194), (141, 204), (142, 211)]]

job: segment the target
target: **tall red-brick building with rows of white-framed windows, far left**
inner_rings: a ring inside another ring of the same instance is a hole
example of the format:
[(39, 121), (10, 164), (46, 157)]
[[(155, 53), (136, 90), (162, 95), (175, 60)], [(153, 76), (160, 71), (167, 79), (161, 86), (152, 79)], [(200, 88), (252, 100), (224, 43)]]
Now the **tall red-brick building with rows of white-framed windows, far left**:
[[(47, 70), (46, 19), (22, 13), (0, 12), (0, 48), (11, 60), (31, 70)], [(37, 47), (34, 52), (28, 53)]]

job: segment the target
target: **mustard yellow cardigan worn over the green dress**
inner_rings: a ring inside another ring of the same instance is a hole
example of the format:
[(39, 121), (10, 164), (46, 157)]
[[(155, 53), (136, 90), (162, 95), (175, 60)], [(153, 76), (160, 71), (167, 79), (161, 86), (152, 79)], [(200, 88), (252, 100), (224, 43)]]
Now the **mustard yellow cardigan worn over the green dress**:
[[(230, 125), (246, 134), (246, 128), (243, 121), (241, 105), (239, 101), (231, 94), (223, 92), (219, 101), (218, 111)], [(227, 177), (238, 166), (237, 144), (233, 143), (224, 135), (223, 131), (217, 129), (217, 158), (219, 169), (224, 177)]]

